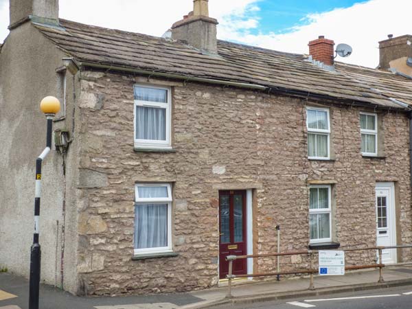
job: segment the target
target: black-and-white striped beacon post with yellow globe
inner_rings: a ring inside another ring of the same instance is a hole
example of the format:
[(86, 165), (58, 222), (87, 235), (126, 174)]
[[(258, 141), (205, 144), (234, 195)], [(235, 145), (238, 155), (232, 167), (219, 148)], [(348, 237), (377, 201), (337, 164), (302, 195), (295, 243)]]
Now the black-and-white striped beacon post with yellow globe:
[(38, 295), (40, 289), (41, 248), (38, 243), (40, 196), (41, 196), (41, 163), (52, 148), (53, 117), (60, 111), (60, 102), (54, 97), (41, 100), (40, 109), (46, 115), (47, 135), (46, 148), (36, 160), (36, 191), (34, 195), (34, 234), (30, 253), (30, 295), (29, 309), (38, 309)]

